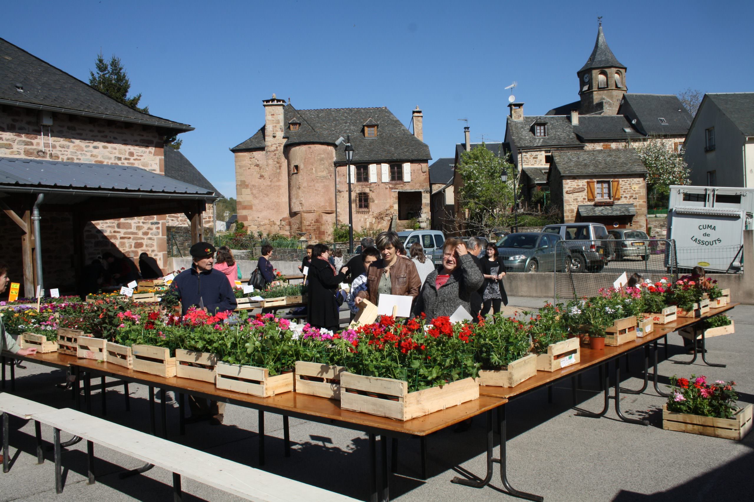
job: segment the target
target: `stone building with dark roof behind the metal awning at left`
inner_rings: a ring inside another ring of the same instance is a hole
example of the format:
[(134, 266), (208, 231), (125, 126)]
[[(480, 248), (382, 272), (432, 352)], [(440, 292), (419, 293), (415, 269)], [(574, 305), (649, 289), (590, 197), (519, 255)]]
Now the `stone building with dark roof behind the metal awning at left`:
[[(164, 138), (193, 129), (122, 105), (0, 38), (0, 157), (135, 166), (191, 184), (201, 174), (179, 166), (185, 157), (166, 151)], [(212, 205), (201, 206), (196, 211), (204, 211), (204, 221), (211, 222)], [(72, 231), (66, 214), (44, 205), (41, 213), (46, 221), (56, 222), (61, 235)], [(136, 258), (146, 251), (165, 267), (168, 224), (188, 227), (189, 220), (185, 214), (160, 214), (87, 222), (85, 259), (88, 262), (103, 251), (121, 251)], [(70, 254), (65, 260), (70, 261)]]

